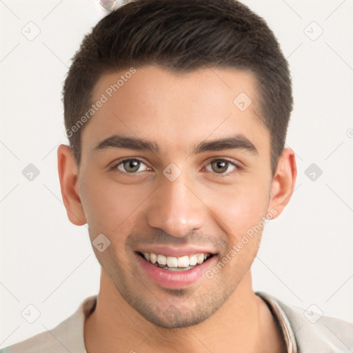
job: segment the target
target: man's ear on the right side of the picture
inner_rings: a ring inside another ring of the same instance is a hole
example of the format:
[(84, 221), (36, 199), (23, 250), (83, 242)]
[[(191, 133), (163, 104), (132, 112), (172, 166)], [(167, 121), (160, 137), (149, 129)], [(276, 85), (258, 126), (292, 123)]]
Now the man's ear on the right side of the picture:
[(290, 201), (296, 181), (296, 161), (292, 149), (284, 148), (272, 178), (268, 212), (274, 208), (277, 212), (272, 219), (278, 217)]

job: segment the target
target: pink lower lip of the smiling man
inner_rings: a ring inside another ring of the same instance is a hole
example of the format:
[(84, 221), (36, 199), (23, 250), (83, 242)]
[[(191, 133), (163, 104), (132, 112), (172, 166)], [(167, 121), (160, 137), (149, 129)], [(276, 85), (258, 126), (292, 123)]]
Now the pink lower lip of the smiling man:
[(135, 255), (137, 256), (139, 265), (141, 265), (141, 268), (148, 274), (150, 279), (165, 288), (180, 288), (196, 282), (205, 275), (208, 268), (212, 267), (212, 263), (216, 259), (216, 256), (212, 256), (212, 258), (201, 263), (201, 265), (196, 265), (190, 270), (170, 271), (152, 265), (152, 263), (139, 256), (139, 254), (135, 253)]

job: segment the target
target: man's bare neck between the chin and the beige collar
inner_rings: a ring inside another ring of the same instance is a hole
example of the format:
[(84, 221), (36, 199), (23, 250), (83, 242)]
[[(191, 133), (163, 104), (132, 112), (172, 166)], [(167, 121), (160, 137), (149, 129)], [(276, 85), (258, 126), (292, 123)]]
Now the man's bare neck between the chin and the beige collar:
[(209, 353), (230, 348), (234, 353), (285, 352), (267, 305), (252, 290), (250, 271), (208, 319), (188, 327), (165, 328), (134, 310), (102, 269), (97, 305), (85, 320), (84, 340), (88, 353)]

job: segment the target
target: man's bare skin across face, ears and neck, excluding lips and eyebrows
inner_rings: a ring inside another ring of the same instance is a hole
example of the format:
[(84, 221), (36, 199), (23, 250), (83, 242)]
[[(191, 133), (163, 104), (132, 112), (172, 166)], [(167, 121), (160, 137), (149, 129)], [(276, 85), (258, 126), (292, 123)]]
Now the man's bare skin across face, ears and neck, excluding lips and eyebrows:
[[(121, 74), (104, 74), (92, 101)], [(240, 92), (252, 99), (245, 111), (233, 103)], [(68, 218), (76, 225), (88, 223), (91, 241), (104, 234), (111, 242), (103, 252), (92, 247), (101, 283), (97, 307), (85, 321), (89, 353), (285, 352), (270, 310), (252, 290), (251, 265), (262, 231), (212, 279), (202, 276), (179, 289), (151, 281), (134, 253), (145, 245), (201, 245), (216, 253), (210, 259), (214, 266), (261, 216), (271, 210), (272, 218), (281, 214), (294, 190), (294, 152), (283, 150), (272, 177), (270, 134), (259, 118), (256, 92), (250, 72), (139, 68), (81, 132), (79, 168), (70, 148), (59, 146)], [(235, 148), (192, 154), (198, 143), (235, 133), (258, 153)], [(113, 134), (154, 141), (160, 153), (95, 149)], [(120, 163), (123, 158), (143, 163), (132, 174)], [(230, 161), (228, 169), (211, 163), (219, 159)], [(110, 169), (118, 163), (120, 169)], [(170, 163), (181, 171), (175, 181), (163, 174)], [(166, 314), (171, 307), (174, 319)]]

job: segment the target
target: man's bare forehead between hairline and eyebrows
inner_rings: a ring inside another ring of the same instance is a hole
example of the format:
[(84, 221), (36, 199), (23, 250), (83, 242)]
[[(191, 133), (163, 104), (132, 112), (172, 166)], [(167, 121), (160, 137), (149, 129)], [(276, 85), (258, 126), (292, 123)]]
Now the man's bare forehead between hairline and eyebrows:
[(230, 134), (269, 147), (256, 87), (252, 72), (223, 68), (174, 73), (146, 66), (103, 74), (92, 92), (92, 103), (103, 103), (83, 130), (83, 150), (113, 134), (157, 141), (162, 153), (188, 154), (195, 143)]

